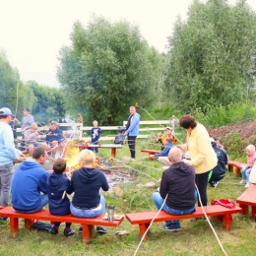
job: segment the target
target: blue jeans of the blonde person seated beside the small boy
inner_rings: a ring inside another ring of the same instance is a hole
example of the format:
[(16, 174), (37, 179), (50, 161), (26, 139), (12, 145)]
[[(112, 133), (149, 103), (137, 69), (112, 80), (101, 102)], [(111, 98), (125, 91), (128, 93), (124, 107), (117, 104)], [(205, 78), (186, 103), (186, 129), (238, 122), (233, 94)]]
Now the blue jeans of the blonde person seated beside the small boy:
[(73, 206), (73, 204), (70, 204), (70, 212), (72, 215), (75, 217), (79, 218), (96, 218), (99, 215), (103, 215), (105, 213), (105, 199), (103, 196), (100, 196), (100, 201), (99, 201), (99, 208), (95, 209), (90, 209), (90, 210), (83, 210), (79, 209)]

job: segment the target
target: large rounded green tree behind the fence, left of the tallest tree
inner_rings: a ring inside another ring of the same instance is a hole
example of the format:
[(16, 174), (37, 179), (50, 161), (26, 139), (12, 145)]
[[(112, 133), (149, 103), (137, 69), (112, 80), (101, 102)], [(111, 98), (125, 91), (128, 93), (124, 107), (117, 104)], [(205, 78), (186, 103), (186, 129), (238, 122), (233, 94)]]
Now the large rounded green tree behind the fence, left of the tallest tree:
[(136, 26), (94, 17), (86, 29), (75, 23), (71, 40), (60, 50), (57, 72), (70, 108), (109, 125), (123, 120), (136, 101), (153, 101), (161, 56)]

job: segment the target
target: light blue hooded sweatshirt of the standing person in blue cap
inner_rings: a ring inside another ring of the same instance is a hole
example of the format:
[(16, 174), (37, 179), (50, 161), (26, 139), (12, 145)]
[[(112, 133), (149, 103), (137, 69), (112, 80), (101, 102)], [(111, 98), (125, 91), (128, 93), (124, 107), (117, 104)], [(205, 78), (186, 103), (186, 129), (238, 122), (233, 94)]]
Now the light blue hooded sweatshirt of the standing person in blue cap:
[(15, 148), (12, 128), (5, 122), (0, 122), (0, 165), (17, 160), (22, 152)]

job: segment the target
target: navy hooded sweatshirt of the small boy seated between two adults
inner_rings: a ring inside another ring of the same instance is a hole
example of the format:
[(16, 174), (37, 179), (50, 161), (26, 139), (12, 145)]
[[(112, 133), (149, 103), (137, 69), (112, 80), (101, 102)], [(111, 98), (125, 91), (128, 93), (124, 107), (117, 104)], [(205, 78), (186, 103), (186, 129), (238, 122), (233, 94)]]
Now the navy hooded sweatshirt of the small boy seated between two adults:
[[(63, 192), (66, 191), (62, 199)], [(70, 180), (66, 174), (52, 172), (47, 178), (47, 194), (49, 211), (52, 215), (67, 215), (70, 213), (70, 201), (67, 194), (73, 192)]]

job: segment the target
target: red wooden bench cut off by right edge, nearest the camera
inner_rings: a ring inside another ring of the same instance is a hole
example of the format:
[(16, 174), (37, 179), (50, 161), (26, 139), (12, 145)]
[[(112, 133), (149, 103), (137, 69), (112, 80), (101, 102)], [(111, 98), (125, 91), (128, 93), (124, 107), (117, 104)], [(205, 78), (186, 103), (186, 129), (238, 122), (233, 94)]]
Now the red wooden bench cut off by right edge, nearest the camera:
[(237, 199), (236, 203), (242, 209), (242, 214), (248, 214), (248, 208), (251, 206), (251, 218), (256, 215), (256, 184), (248, 187)]

